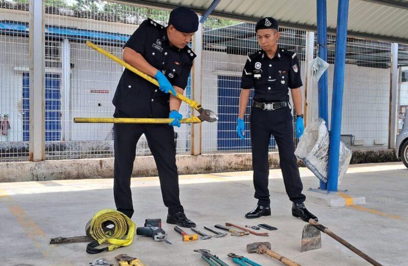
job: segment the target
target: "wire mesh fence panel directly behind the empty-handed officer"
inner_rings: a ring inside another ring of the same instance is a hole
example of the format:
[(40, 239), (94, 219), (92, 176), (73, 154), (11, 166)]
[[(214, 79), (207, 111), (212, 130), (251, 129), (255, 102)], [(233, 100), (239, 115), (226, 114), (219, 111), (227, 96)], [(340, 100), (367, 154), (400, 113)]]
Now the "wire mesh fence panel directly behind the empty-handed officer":
[[(253, 90), (245, 116), (245, 140), (238, 138), (238, 117), (241, 76), (247, 55), (260, 49), (253, 23), (210, 17), (203, 25), (202, 99), (208, 108), (216, 110), (219, 121), (203, 125), (202, 151), (249, 152), (249, 114)], [(279, 46), (298, 54), (304, 61), (305, 32), (281, 28)], [(302, 72), (304, 77), (304, 73)], [(304, 79), (303, 79), (304, 80)], [(269, 151), (277, 151), (271, 137)]]

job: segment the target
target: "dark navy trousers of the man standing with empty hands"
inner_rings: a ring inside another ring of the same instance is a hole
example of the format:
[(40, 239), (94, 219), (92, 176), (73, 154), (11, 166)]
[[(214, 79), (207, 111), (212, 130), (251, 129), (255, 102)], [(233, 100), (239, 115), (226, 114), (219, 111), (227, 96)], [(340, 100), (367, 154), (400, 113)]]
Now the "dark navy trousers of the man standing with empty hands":
[(279, 164), (284, 178), (286, 193), (292, 202), (302, 203), (302, 181), (297, 166), (293, 142), (293, 116), (289, 107), (265, 111), (251, 109), (250, 132), (252, 144), (253, 185), (258, 205), (270, 205), (268, 189), (269, 162), (268, 151), (271, 134), (279, 150)]

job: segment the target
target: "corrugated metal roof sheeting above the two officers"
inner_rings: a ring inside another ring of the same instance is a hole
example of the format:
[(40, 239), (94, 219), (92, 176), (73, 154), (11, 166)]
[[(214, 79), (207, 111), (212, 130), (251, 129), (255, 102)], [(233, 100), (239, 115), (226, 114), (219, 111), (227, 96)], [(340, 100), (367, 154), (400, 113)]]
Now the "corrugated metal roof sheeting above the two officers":
[[(129, 0), (154, 7), (187, 6), (203, 12), (212, 0)], [(379, 1), (350, 0), (348, 31), (350, 36), (369, 37), (408, 43), (408, 1), (388, 0), (392, 5), (382, 5)], [(327, 27), (335, 32), (337, 24), (338, 1), (327, 1)], [(395, 5), (401, 5), (401, 8)], [(272, 16), (283, 26), (308, 30), (316, 28), (315, 0), (221, 0), (213, 14), (255, 21), (261, 17)]]

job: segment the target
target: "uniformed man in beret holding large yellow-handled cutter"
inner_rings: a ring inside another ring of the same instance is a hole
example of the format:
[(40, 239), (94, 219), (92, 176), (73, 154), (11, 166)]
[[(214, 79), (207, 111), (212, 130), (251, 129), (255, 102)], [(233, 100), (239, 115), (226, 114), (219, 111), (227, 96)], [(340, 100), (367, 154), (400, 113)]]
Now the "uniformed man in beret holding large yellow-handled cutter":
[(180, 203), (173, 127), (180, 127), (183, 116), (179, 113), (181, 100), (173, 95), (183, 93), (187, 86), (195, 58), (188, 43), (197, 29), (198, 16), (188, 8), (179, 7), (170, 12), (168, 27), (151, 19), (144, 20), (124, 45), (123, 60), (155, 77), (160, 87), (124, 69), (112, 101), (116, 107), (114, 117), (173, 118), (169, 125), (114, 125), (114, 198), (117, 210), (129, 217), (134, 212), (130, 185), (136, 144), (145, 134), (159, 172), (164, 205), (168, 208), (167, 223), (195, 227)]

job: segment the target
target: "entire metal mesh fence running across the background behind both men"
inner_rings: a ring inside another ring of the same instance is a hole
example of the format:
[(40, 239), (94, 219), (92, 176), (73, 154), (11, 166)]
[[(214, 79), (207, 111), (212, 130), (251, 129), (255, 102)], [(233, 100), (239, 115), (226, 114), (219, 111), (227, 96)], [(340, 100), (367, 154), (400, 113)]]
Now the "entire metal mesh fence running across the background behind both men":
[[(29, 119), (28, 3), (27, 0), (0, 0), (0, 162), (29, 159), (30, 123), (35, 122)], [(73, 123), (73, 117), (112, 117), (111, 101), (123, 71), (121, 66), (90, 49), (85, 41), (91, 40), (121, 57), (124, 42), (144, 19), (151, 18), (166, 26), (168, 16), (169, 10), (113, 1), (45, 1), (47, 160), (114, 156), (112, 124)], [(280, 28), (279, 32), (279, 45), (298, 55), (305, 83), (307, 32), (291, 28)], [(328, 36), (329, 113), (335, 40), (335, 36)], [(203, 107), (217, 112), (220, 117), (217, 123), (202, 124), (201, 152), (249, 152), (249, 119), (246, 119), (244, 141), (238, 139), (235, 128), (243, 66), (247, 55), (259, 49), (254, 24), (210, 16), (203, 25), (201, 46), (201, 62), (195, 62), (201, 63), (200, 101)], [(316, 42), (314, 46), (316, 48)], [(341, 134), (343, 142), (352, 149), (388, 148), (390, 63), (391, 43), (347, 39)], [(399, 44), (398, 67), (399, 128), (408, 108), (406, 44)], [(308, 108), (312, 110), (312, 118), (317, 118), (317, 84), (312, 84), (311, 90)], [(191, 97), (190, 85), (185, 95)], [(183, 103), (181, 113), (189, 117), (190, 107)], [(177, 154), (189, 154), (190, 125), (182, 125), (175, 131)], [(295, 137), (294, 140), (297, 143)], [(273, 137), (269, 151), (277, 151)], [(149, 154), (147, 141), (142, 136), (137, 155)]]

